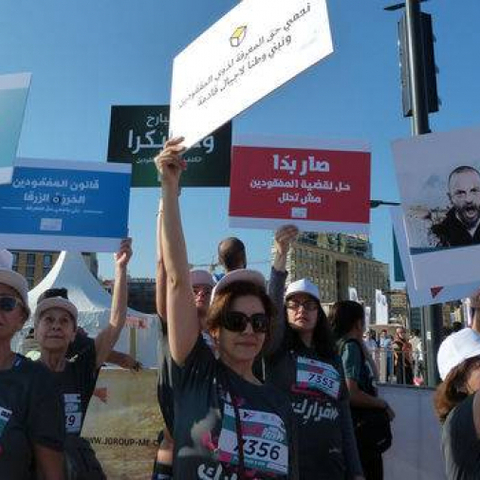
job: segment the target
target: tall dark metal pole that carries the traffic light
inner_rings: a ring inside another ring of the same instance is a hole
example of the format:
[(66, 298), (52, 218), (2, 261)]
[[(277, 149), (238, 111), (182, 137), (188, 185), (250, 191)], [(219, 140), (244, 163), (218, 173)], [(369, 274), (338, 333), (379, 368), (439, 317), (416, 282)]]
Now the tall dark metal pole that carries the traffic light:
[[(425, 36), (427, 32), (423, 32), (422, 24), (424, 24), (424, 22), (422, 21), (422, 12), (420, 9), (421, 1), (422, 0), (406, 0), (404, 4), (394, 5), (393, 7), (387, 8), (387, 10), (394, 10), (405, 7), (405, 31), (403, 33), (406, 37), (406, 51), (401, 52), (403, 53), (401, 65), (403, 72), (408, 72), (406, 78), (406, 82), (408, 82), (408, 84), (404, 85), (403, 88), (409, 89), (408, 95), (409, 100), (411, 101), (412, 135), (423, 135), (425, 133), (430, 133), (430, 126), (428, 122), (428, 88), (431, 87), (431, 85), (427, 85), (428, 82), (425, 58), (426, 50), (424, 41), (431, 41), (431, 53), (433, 57), (433, 39), (427, 38)], [(401, 26), (402, 25), (400, 24), (400, 28)], [(433, 73), (433, 77), (435, 77), (435, 73)], [(438, 110), (436, 84), (434, 85), (434, 88), (434, 100), (436, 106), (430, 111)], [(405, 94), (405, 91), (403, 93)], [(405, 116), (407, 116), (407, 114), (405, 114)], [(423, 307), (422, 317), (422, 343), (424, 350), (426, 350), (427, 384), (430, 387), (434, 387), (440, 380), (436, 357), (442, 338), (442, 305), (435, 304), (430, 307)]]

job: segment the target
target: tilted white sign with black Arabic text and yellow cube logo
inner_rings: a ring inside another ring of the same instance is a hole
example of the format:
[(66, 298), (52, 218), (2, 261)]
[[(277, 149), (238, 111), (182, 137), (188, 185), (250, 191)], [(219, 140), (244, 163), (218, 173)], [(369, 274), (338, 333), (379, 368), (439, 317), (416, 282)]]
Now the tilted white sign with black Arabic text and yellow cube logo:
[(191, 147), (333, 52), (326, 0), (244, 0), (173, 62), (170, 135)]

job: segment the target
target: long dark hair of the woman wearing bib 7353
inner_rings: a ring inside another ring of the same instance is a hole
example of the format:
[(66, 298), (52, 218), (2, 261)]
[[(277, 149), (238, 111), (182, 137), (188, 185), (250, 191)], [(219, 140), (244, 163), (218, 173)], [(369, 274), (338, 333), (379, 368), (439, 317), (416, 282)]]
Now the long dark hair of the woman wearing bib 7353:
[[(335, 347), (335, 340), (333, 337), (332, 329), (328, 323), (328, 318), (325, 311), (322, 308), (322, 304), (313, 296), (309, 297), (314, 300), (318, 305), (317, 323), (313, 329), (312, 347), (319, 357), (326, 359), (332, 359), (337, 354)], [(288, 312), (285, 307), (285, 321), (287, 322), (286, 331), (286, 345), (289, 350), (299, 350), (303, 344), (300, 334), (297, 330), (294, 330), (288, 322)]]

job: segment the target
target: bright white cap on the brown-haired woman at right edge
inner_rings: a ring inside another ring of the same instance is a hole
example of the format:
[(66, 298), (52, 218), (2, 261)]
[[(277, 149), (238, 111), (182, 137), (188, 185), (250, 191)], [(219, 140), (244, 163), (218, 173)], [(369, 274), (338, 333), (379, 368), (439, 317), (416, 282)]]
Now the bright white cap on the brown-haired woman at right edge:
[(438, 371), (442, 380), (465, 360), (480, 355), (480, 335), (464, 328), (449, 335), (440, 345), (437, 355)]

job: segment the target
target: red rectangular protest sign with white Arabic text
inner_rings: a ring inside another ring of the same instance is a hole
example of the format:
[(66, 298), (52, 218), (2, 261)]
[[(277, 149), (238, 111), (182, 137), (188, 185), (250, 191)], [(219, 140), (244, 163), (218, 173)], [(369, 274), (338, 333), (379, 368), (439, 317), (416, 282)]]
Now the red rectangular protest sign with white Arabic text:
[(260, 142), (233, 147), (230, 226), (272, 229), (288, 222), (307, 231), (368, 232), (369, 152)]

